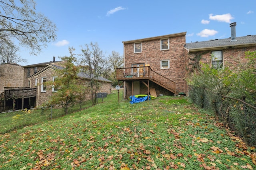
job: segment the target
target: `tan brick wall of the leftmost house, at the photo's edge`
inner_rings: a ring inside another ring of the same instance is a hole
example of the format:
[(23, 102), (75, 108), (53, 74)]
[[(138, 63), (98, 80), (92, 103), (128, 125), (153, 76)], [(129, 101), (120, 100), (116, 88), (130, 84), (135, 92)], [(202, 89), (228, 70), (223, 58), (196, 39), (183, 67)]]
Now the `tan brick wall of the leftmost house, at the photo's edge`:
[(0, 93), (4, 87), (22, 87), (24, 76), (22, 66), (16, 64), (0, 64)]

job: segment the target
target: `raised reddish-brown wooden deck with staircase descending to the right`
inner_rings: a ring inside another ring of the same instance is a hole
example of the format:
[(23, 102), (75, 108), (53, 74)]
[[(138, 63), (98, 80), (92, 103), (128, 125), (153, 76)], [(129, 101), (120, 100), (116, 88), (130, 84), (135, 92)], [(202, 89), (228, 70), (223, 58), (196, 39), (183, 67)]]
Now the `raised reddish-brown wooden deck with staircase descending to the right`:
[[(176, 83), (158, 72), (155, 72), (150, 66), (116, 68), (116, 79), (118, 81), (152, 81), (176, 95)], [(145, 85), (148, 86), (148, 84)]]

